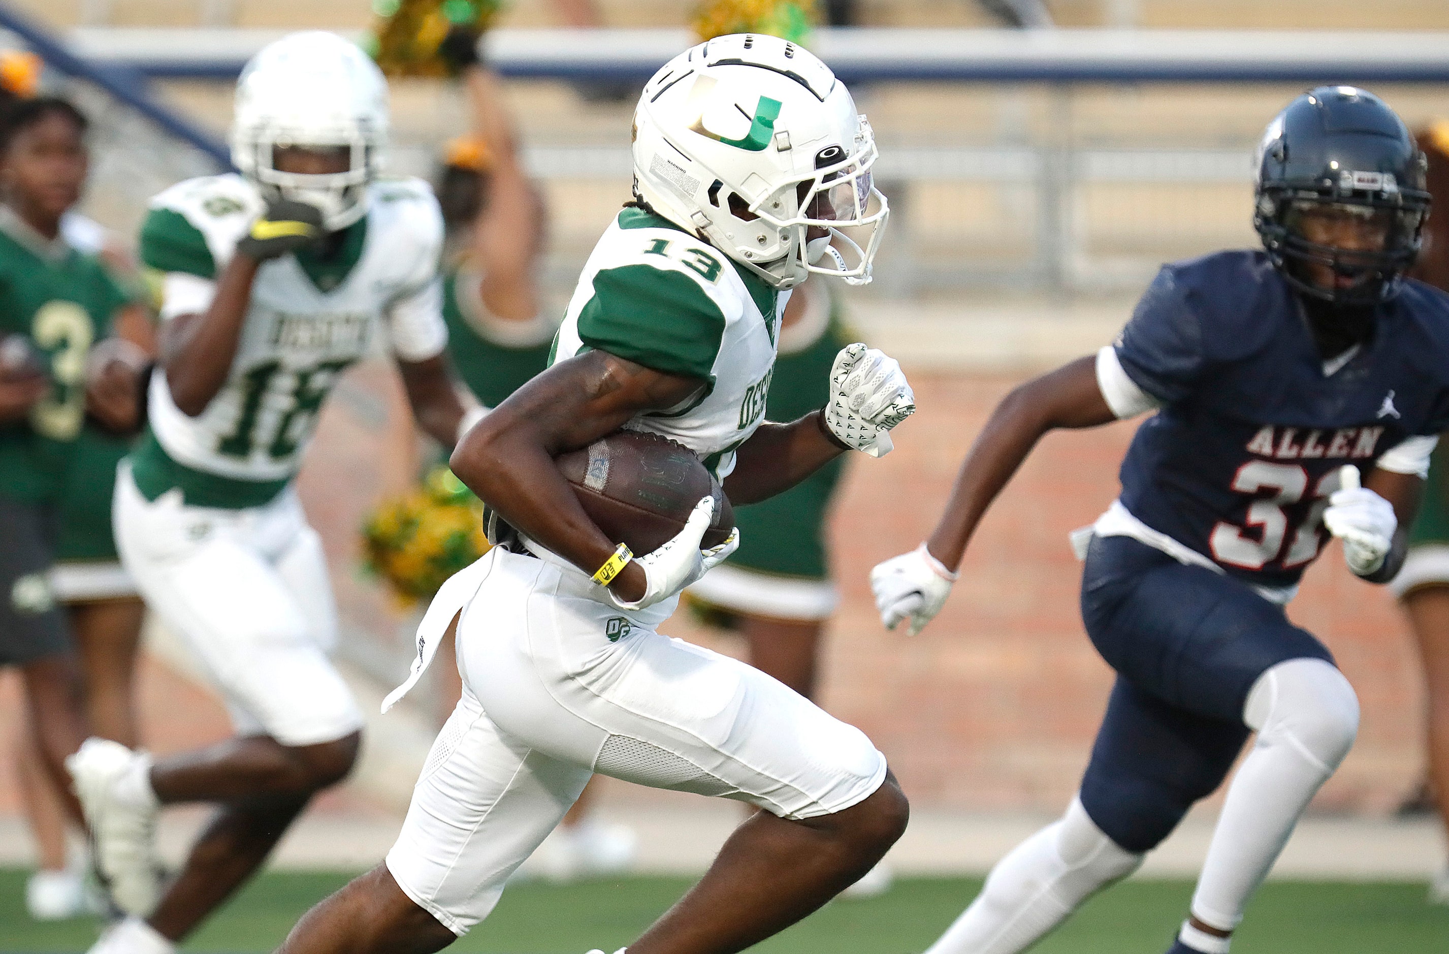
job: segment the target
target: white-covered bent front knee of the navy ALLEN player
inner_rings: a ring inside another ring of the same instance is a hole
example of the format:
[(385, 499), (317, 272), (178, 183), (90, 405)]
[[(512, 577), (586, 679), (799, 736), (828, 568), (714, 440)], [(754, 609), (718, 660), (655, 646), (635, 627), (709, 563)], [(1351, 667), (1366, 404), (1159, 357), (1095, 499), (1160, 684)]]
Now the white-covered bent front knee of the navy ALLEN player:
[(1337, 768), (1359, 726), (1353, 686), (1332, 663), (1300, 658), (1258, 677), (1243, 712), (1261, 745), (1287, 744), (1324, 771)]

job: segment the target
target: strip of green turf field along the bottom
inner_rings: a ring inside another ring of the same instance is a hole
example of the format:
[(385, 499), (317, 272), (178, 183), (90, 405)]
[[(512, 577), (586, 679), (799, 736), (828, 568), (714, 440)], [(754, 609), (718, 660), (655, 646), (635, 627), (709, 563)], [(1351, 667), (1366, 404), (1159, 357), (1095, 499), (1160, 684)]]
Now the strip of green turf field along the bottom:
[[(270, 951), (343, 874), (267, 874), (187, 944), (193, 951)], [(83, 951), (96, 924), (38, 925), (25, 915), (25, 874), (0, 870), (0, 951)], [(627, 944), (688, 886), (672, 877), (571, 887), (517, 884), (452, 951), (584, 954)], [(884, 897), (826, 906), (759, 951), (907, 954), (922, 951), (980, 886), (971, 879), (903, 879)], [(1040, 954), (1162, 954), (1191, 895), (1187, 882), (1129, 882), (1100, 896), (1036, 948)], [(1423, 884), (1272, 882), (1248, 912), (1233, 954), (1429, 954), (1449, 951), (1449, 908), (1424, 903)]]

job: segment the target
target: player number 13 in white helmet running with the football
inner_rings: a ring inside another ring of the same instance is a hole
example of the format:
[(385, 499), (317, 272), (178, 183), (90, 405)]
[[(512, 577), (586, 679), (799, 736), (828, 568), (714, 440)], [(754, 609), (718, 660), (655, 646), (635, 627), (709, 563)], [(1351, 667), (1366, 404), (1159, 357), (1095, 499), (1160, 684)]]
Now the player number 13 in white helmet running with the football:
[(914, 399), (900, 367), (864, 345), (840, 352), (826, 407), (762, 423), (788, 289), (811, 271), (869, 275), (885, 219), (869, 126), (811, 54), (724, 36), (649, 81), (633, 157), (636, 200), (584, 267), (554, 364), (452, 457), (497, 512), (500, 545), (429, 607), (410, 681), (458, 616), (464, 697), (385, 863), (304, 916), (288, 954), (446, 947), (488, 915), (596, 771), (762, 809), (635, 954), (749, 947), (861, 877), (906, 826), (906, 797), (859, 729), (656, 631), (738, 541), (700, 549), (710, 500), (620, 570), (627, 554), (552, 460), (620, 426), (653, 431), (748, 503), (845, 449), (888, 449)]

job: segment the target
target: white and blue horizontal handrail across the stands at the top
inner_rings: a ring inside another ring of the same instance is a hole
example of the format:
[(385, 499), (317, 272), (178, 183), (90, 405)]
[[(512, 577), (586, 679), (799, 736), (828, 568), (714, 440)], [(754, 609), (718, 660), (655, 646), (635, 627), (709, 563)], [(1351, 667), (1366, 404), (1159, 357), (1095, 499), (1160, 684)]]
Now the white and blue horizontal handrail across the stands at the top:
[[(77, 49), (151, 77), (230, 78), (283, 30), (88, 28)], [(355, 33), (343, 32), (355, 36)], [(503, 74), (642, 80), (685, 49), (684, 29), (500, 29)], [(1446, 83), (1449, 33), (1274, 30), (820, 29), (811, 41), (851, 81)]]

